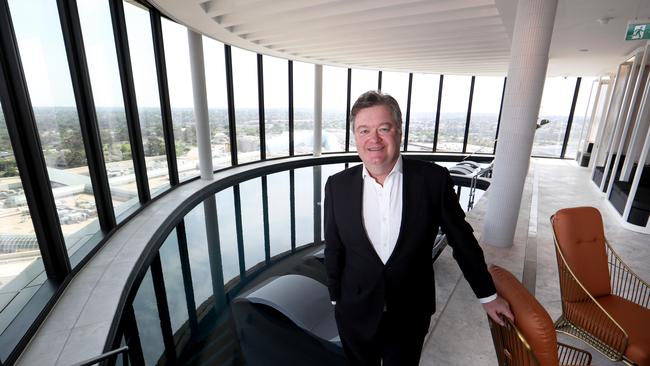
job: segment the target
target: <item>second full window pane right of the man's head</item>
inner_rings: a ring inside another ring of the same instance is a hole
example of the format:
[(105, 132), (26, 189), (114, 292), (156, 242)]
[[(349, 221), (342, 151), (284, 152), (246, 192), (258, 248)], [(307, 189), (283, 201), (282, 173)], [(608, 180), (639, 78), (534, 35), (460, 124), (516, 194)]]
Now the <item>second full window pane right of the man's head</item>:
[(463, 151), (471, 76), (445, 75), (436, 151)]

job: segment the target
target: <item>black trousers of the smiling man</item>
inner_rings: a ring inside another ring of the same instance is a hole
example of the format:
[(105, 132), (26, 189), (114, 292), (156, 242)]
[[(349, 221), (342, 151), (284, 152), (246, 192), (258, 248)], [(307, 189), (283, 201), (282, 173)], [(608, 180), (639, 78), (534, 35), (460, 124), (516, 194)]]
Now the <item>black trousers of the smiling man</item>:
[(405, 320), (402, 316), (384, 312), (377, 335), (372, 340), (359, 340), (342, 335), (341, 343), (347, 365), (417, 366), (431, 316)]

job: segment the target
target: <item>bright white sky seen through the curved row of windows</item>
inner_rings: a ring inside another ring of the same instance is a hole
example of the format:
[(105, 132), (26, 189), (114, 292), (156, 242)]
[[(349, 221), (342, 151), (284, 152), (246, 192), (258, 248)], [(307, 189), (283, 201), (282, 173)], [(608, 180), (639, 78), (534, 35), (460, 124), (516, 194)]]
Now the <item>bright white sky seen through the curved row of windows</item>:
[[(23, 67), (32, 103), (35, 106), (74, 106), (63, 38), (56, 2), (45, 0), (10, 0), (11, 15), (19, 43)], [(93, 97), (98, 107), (123, 105), (119, 71), (107, 1), (78, 0), (84, 45), (91, 78)], [(158, 107), (159, 96), (148, 13), (124, 3), (134, 83), (140, 107)], [(172, 107), (190, 108), (192, 84), (187, 28), (162, 20), (165, 40), (169, 93)], [(226, 108), (225, 62), (223, 44), (203, 37), (208, 105)], [(256, 54), (232, 48), (235, 106), (257, 107)], [(294, 105), (313, 106), (314, 65), (294, 62)], [(377, 88), (376, 70), (352, 71), (352, 96)], [(413, 111), (435, 111), (439, 75), (414, 74)], [(469, 76), (446, 75), (442, 98), (443, 112), (467, 110)], [(540, 115), (567, 111), (575, 78), (547, 80)], [(286, 60), (264, 56), (264, 100), (268, 108), (286, 108), (288, 104)], [(323, 69), (323, 109), (345, 110), (347, 70), (325, 66)], [(498, 111), (503, 78), (477, 77), (472, 111)], [(384, 72), (382, 90), (393, 95), (406, 113), (408, 74)]]

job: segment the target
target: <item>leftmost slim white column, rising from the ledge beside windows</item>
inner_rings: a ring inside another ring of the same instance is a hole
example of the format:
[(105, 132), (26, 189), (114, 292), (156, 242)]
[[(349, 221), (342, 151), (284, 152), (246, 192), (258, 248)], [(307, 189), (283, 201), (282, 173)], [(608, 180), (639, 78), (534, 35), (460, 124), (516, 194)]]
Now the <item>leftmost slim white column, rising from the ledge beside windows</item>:
[(212, 179), (212, 146), (210, 144), (210, 122), (208, 119), (208, 97), (205, 89), (205, 65), (203, 63), (203, 41), (201, 35), (187, 30), (190, 45), (190, 69), (192, 70), (192, 94), (194, 96), (194, 118), (196, 119), (196, 140), (199, 149), (199, 170), (201, 179)]

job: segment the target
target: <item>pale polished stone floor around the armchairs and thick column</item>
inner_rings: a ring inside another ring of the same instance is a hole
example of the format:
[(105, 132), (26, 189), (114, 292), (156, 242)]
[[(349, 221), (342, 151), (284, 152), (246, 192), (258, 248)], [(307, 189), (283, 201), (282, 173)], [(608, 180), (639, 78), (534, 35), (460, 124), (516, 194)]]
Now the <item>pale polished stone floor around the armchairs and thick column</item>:
[[(487, 200), (489, 191), (468, 215), (479, 242)], [(549, 218), (560, 208), (575, 206), (598, 208), (612, 246), (642, 278), (650, 279), (650, 235), (621, 225), (616, 210), (591, 182), (590, 170), (571, 160), (532, 159), (513, 246), (482, 247), (488, 263), (510, 270), (535, 289), (534, 295), (553, 320), (560, 315), (561, 304)], [(432, 318), (420, 365), (496, 365), (486, 315), (453, 260), (451, 248), (438, 258), (435, 269), (438, 311)], [(559, 338), (591, 352), (595, 365), (617, 364), (580, 341)]]

